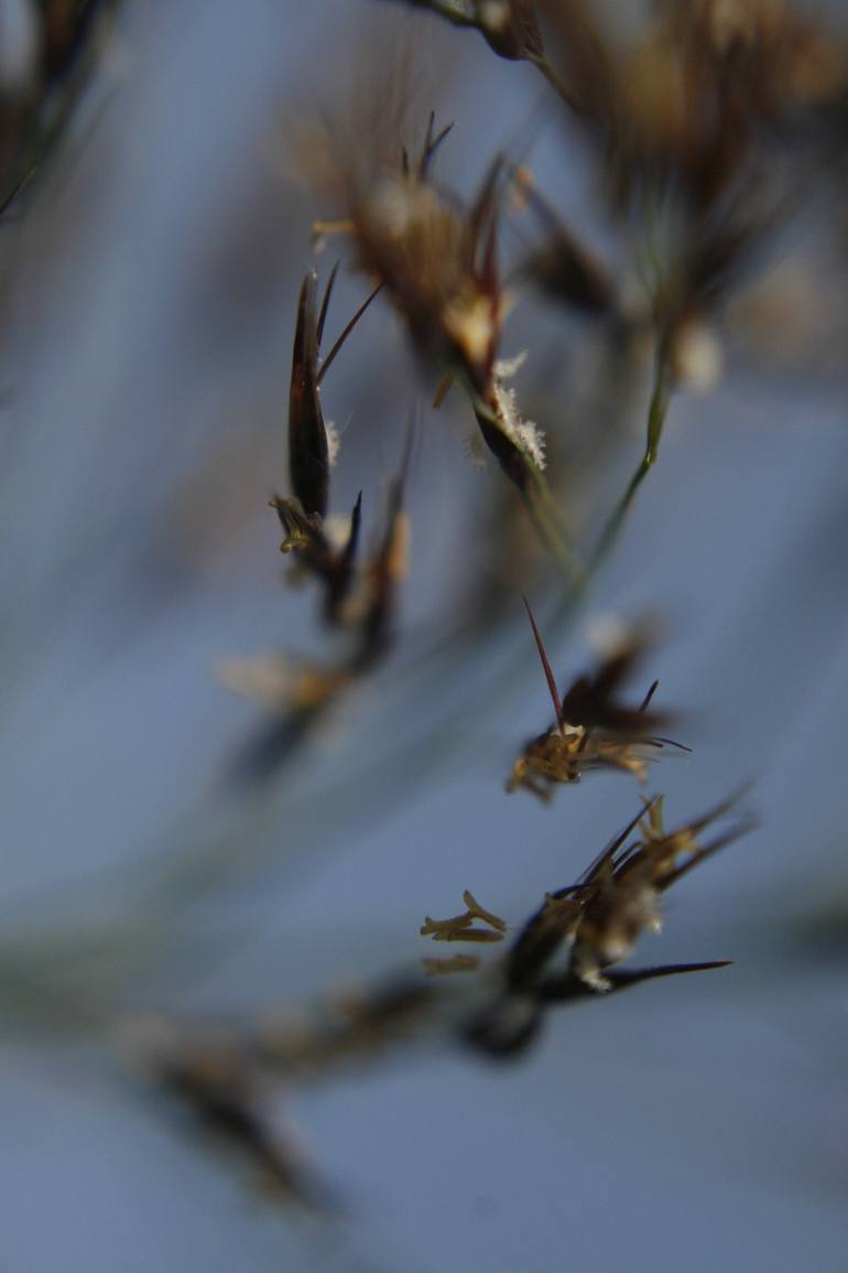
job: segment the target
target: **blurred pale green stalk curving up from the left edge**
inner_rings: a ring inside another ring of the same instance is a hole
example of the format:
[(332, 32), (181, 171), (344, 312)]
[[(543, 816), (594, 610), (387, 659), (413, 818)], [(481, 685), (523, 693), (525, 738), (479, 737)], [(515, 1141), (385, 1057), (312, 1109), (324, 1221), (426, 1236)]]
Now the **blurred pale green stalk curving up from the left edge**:
[[(575, 591), (563, 593), (556, 612), (545, 619), (548, 631), (562, 635), (580, 601)], [(467, 633), (462, 631), (460, 643), (465, 639)], [(475, 653), (479, 656), (479, 645)], [(455, 657), (456, 649), (453, 644), (445, 647), (442, 635), (430, 656), (423, 656), (428, 682), (439, 684)], [(282, 792), (280, 787), (263, 788), (252, 793), (225, 826), (210, 829), (201, 836), (192, 826), (191, 813), (178, 816), (153, 861), (140, 862), (130, 869), (126, 863), (106, 867), (78, 881), (80, 887), (75, 896), (80, 905), (70, 917), (67, 909), (74, 908), (74, 903), (67, 896), (66, 882), (38, 890), (23, 903), (17, 899), (10, 914), (19, 915), (23, 905), (33, 914), (55, 908), (56, 915), (51, 928), (38, 937), (22, 936), (19, 941), (11, 934), (6, 937), (0, 947), (0, 999), (11, 1007), (18, 1001), (24, 1002), (29, 993), (43, 1007), (44, 1017), (52, 1016), (51, 1006), (64, 1002), (69, 1011), (72, 1006), (71, 1016), (84, 1026), (102, 1020), (104, 997), (113, 1004), (122, 987), (131, 985), (177, 953), (187, 936), (187, 918), (195, 915), (203, 901), (220, 896), (224, 889), (261, 866), (262, 859), (296, 858), (303, 864), (306, 854), (313, 857), (328, 843), (327, 817), (334, 816), (333, 810), (348, 810), (346, 831), (353, 836), (365, 817), (375, 812), (390, 813), (403, 803), (413, 783), (421, 785), (453, 766), (464, 742), (463, 724), (469, 715), (479, 724), (487, 710), (495, 710), (496, 705), (502, 709), (517, 693), (525, 663), (524, 643), (510, 642), (500, 656), (489, 651), (487, 675), (467, 682), (442, 710), (421, 721), (411, 701), (420, 694), (420, 677), (411, 682), (404, 668), (398, 668), (386, 689), (398, 698), (397, 715), (413, 722), (408, 738), (398, 745), (397, 736), (392, 735), (386, 746), (376, 751), (362, 752), (352, 747), (353, 764), (338, 775), (332, 791), (322, 787), (300, 794), (291, 782), (282, 784)], [(422, 657), (416, 661), (416, 668), (421, 672)], [(383, 780), (366, 810), (359, 797), (375, 770)], [(289, 777), (287, 766), (285, 777)], [(282, 825), (290, 829), (286, 843), (270, 845), (273, 829)], [(308, 835), (292, 831), (292, 827), (304, 826), (310, 829)], [(102, 922), (93, 925), (86, 897), (94, 885), (113, 900), (107, 904)], [(108, 969), (108, 985), (103, 981), (104, 967)], [(60, 1013), (64, 1015), (65, 1011)]]

